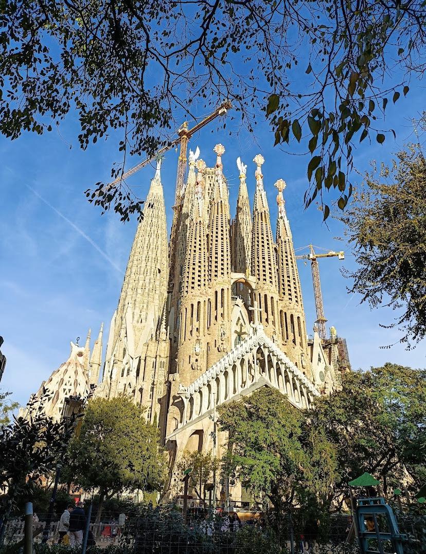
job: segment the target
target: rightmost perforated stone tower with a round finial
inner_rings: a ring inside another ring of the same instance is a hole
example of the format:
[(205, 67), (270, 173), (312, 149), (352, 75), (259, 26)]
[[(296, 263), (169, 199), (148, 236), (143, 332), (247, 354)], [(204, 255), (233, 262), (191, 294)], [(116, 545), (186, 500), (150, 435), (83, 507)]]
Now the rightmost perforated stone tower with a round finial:
[(306, 343), (306, 320), (302, 302), (299, 272), (287, 214), (283, 191), (285, 181), (279, 179), (275, 183), (278, 189), (276, 203), (278, 218), (276, 220), (276, 246), (278, 250), (278, 282), (279, 282), (279, 319), (281, 341), (284, 351), (290, 360), (296, 364), (305, 375), (311, 377), (310, 356)]

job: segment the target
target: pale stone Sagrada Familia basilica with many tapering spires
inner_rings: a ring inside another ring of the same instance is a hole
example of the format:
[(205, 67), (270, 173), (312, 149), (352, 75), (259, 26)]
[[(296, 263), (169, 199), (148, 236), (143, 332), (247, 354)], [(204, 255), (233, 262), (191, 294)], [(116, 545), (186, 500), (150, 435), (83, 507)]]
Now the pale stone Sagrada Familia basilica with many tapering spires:
[[(189, 153), (186, 182), (176, 191), (171, 238), (160, 162), (151, 181), (112, 317), (105, 360), (102, 328), (90, 352), (71, 354), (42, 391), (59, 418), (64, 399), (90, 385), (106, 398), (130, 396), (161, 431), (171, 463), (184, 450), (212, 449), (219, 404), (274, 387), (297, 408), (338, 386), (349, 362), (345, 341), (306, 332), (299, 274), (279, 179), (275, 240), (264, 188), (264, 158), (254, 158), (253, 212), (247, 166), (237, 160), (237, 213), (231, 219), (221, 144), (214, 167)], [(100, 370), (103, 367), (102, 378)], [(37, 398), (37, 395), (36, 395)]]

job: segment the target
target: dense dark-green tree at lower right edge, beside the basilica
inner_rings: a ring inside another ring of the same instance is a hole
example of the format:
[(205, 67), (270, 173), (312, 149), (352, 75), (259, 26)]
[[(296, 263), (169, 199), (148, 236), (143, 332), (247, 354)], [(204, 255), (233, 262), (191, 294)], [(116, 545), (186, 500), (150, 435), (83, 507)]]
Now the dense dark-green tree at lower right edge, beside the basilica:
[(402, 488), (407, 474), (417, 493), (426, 478), (425, 399), (426, 371), (392, 363), (346, 373), (340, 391), (315, 398), (309, 424), (336, 446), (337, 492), (368, 471), (385, 494)]

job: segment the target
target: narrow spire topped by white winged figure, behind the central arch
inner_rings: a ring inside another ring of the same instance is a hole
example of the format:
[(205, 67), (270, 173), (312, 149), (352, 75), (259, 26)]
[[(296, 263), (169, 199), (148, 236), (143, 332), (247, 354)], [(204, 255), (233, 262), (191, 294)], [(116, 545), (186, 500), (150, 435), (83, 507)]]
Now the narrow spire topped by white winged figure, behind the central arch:
[(247, 166), (237, 159), (240, 186), (237, 199), (237, 214), (233, 222), (233, 261), (234, 271), (250, 273), (252, 264), (252, 214), (250, 213), (249, 193), (245, 183)]

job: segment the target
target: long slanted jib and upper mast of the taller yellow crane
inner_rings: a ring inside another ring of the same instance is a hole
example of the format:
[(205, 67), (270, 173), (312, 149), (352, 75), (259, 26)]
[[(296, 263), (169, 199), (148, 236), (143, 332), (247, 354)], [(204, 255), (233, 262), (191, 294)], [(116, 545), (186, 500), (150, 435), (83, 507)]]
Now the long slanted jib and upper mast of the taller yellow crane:
[[(223, 102), (217, 110), (215, 110), (212, 114), (205, 117), (203, 120), (201, 120), (199, 123), (194, 125), (192, 129), (188, 129), (188, 122), (185, 121), (182, 127), (177, 131), (178, 137), (177, 139), (173, 140), (166, 146), (163, 146), (158, 150), (155, 155), (151, 156), (150, 158), (146, 158), (141, 163), (138, 163), (137, 166), (132, 167), (131, 170), (126, 171), (121, 175), (120, 177), (117, 177), (115, 181), (112, 181), (112, 183), (107, 184), (104, 190), (108, 190), (111, 187), (114, 187), (115, 184), (120, 183), (121, 181), (124, 181), (124, 179), (127, 179), (127, 177), (130, 177), (131, 175), (134, 175), (137, 171), (141, 170), (142, 167), (145, 167), (148, 165), (148, 163), (152, 162), (153, 160), (156, 160), (159, 156), (162, 156), (165, 152), (173, 148), (174, 146), (177, 146), (179, 143), (181, 145), (180, 152), (179, 152), (179, 162), (178, 162), (178, 172), (177, 172), (177, 183), (183, 182), (183, 176), (185, 173), (186, 168), (186, 155), (187, 155), (187, 147), (188, 147), (188, 140), (191, 139), (192, 135), (202, 129), (204, 125), (207, 125), (209, 122), (213, 121), (216, 117), (219, 115), (225, 115), (227, 111), (232, 107), (229, 101)], [(176, 188), (177, 194), (178, 191), (180, 191), (180, 188)]]

